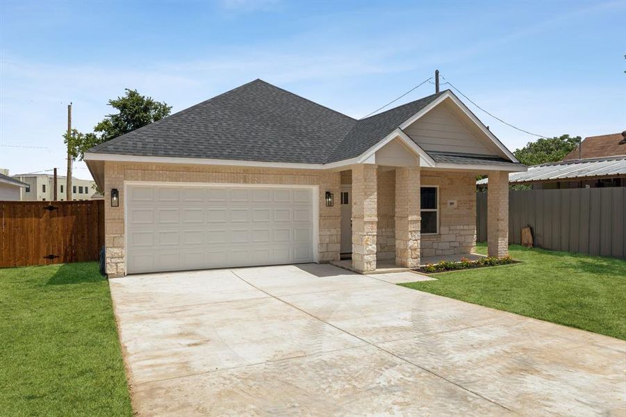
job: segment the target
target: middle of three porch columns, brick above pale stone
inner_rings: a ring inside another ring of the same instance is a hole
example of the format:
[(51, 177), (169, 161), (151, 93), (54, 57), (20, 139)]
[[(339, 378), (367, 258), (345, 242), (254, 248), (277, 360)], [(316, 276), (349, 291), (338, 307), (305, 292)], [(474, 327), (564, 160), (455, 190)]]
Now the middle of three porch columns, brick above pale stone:
[(420, 167), (395, 170), (395, 263), (420, 265)]

